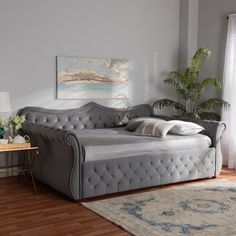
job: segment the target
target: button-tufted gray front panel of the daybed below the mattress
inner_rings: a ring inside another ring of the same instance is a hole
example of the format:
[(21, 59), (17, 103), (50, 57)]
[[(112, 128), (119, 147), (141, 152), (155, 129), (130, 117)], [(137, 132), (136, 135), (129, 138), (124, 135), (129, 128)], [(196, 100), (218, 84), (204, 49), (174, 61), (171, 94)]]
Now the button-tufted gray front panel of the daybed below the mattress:
[(83, 197), (214, 176), (215, 149), (83, 163)]

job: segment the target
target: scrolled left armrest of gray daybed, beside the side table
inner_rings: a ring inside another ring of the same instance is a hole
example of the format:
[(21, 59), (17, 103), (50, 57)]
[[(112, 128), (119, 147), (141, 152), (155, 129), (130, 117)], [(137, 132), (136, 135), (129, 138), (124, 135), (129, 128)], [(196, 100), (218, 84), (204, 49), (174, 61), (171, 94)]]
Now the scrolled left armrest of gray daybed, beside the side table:
[(39, 146), (33, 166), (35, 177), (79, 200), (82, 149), (73, 131), (26, 122), (23, 132), (30, 136), (33, 145)]

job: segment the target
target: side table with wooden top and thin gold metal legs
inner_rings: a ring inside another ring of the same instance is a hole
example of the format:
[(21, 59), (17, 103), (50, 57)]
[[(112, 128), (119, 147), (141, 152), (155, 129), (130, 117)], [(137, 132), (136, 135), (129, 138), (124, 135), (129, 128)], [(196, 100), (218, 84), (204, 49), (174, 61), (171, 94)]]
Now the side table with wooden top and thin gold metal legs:
[[(9, 149), (0, 149), (0, 153), (10, 153), (11, 154), (11, 170), (12, 170), (12, 176), (13, 176), (13, 153), (18, 152), (21, 153), (21, 169), (19, 170), (19, 175), (21, 175), (23, 172), (28, 172), (32, 184), (34, 186), (34, 191), (35, 193), (38, 193), (35, 180), (34, 180), (34, 175), (33, 175), (33, 164), (34, 164), (34, 159), (39, 153), (39, 147), (27, 147), (27, 148), (9, 148)], [(9, 165), (7, 164), (7, 174), (9, 171)]]

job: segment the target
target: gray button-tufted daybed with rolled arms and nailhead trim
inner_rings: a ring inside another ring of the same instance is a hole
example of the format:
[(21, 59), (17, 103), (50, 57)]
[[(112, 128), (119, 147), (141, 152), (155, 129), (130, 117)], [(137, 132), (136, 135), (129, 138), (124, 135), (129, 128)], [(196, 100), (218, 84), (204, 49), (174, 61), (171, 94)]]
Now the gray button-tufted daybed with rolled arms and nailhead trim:
[[(149, 105), (114, 109), (88, 103), (70, 110), (26, 107), (19, 114), (26, 115), (23, 131), (40, 148), (33, 166), (35, 177), (76, 201), (214, 177), (221, 170), (220, 137), (225, 129), (221, 122), (194, 121), (205, 128), (210, 146), (181, 146), (180, 140), (176, 148), (156, 150), (160, 138), (137, 138), (122, 127), (132, 118), (153, 116)], [(176, 142), (179, 138), (175, 137)]]

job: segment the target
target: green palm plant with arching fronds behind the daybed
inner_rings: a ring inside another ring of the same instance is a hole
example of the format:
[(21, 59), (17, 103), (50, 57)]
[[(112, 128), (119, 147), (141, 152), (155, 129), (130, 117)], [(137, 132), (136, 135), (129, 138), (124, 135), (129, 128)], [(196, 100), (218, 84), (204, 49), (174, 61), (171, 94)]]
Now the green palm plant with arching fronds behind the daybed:
[(164, 83), (169, 85), (185, 104), (164, 98), (155, 101), (153, 107), (157, 109), (172, 107), (185, 118), (219, 120), (220, 116), (215, 111), (222, 107), (229, 107), (230, 104), (220, 98), (202, 101), (203, 92), (208, 86), (221, 89), (220, 80), (211, 77), (204, 80), (199, 78), (200, 70), (210, 55), (209, 49), (199, 48), (194, 54), (190, 66), (183, 73), (172, 71), (164, 80)]

